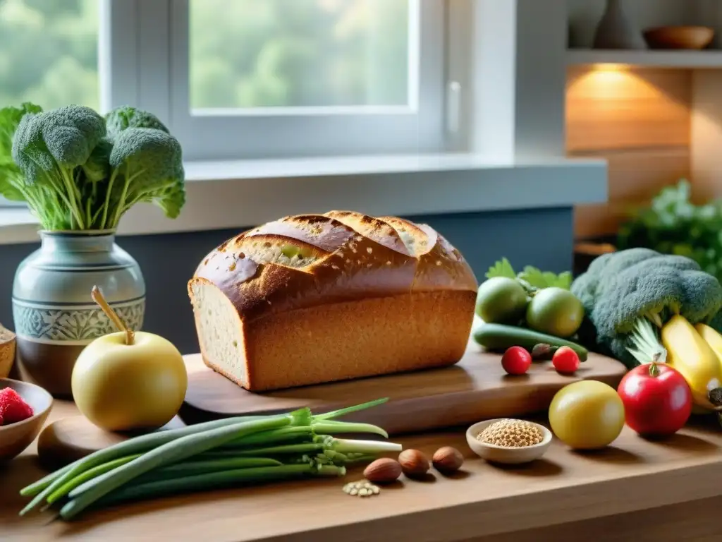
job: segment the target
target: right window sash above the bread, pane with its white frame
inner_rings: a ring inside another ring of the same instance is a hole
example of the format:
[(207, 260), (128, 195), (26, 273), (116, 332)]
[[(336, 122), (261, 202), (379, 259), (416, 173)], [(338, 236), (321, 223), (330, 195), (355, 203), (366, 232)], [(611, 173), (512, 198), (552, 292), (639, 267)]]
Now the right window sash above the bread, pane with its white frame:
[(170, 9), (169, 116), (191, 158), (443, 145), (442, 0), (172, 0)]

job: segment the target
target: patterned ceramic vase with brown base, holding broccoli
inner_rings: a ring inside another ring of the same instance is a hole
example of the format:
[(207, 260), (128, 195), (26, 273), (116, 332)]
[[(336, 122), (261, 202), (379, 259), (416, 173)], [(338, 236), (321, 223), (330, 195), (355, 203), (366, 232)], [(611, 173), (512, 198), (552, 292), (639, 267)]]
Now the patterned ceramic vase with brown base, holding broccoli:
[(85, 345), (115, 332), (90, 296), (94, 285), (133, 330), (143, 324), (145, 283), (113, 231), (42, 231), (40, 249), (15, 272), (12, 312), (19, 361), (56, 397), (71, 395), (71, 374)]

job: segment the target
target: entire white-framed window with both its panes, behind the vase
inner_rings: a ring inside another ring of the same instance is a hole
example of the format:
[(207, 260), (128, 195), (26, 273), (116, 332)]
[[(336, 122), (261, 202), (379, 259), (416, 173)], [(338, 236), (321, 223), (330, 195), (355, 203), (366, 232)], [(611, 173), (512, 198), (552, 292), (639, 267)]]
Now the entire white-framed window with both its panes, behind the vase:
[(135, 105), (188, 160), (438, 151), (443, 25), (444, 0), (0, 0), (0, 103)]

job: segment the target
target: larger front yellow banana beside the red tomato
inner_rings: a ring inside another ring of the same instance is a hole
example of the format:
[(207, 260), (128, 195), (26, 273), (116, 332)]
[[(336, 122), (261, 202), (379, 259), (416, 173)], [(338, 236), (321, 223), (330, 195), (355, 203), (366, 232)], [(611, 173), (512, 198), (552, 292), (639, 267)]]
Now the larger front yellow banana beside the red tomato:
[(722, 362), (715, 350), (687, 319), (679, 315), (664, 324), (661, 337), (667, 350), (667, 364), (677, 369), (690, 385), (695, 405), (712, 410), (708, 393), (722, 386)]

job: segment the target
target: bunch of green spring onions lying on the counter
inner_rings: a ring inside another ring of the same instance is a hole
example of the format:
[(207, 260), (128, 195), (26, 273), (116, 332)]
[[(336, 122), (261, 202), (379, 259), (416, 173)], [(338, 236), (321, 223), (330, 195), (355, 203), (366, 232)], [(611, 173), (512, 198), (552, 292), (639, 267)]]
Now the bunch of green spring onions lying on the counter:
[[(346, 465), (373, 460), (400, 444), (339, 439), (336, 434), (388, 437), (369, 423), (334, 418), (386, 399), (313, 416), (308, 408), (277, 416), (246, 416), (155, 431), (82, 458), (20, 490), (32, 496), (20, 515), (61, 506), (71, 520), (87, 509), (248, 483), (343, 476)], [(44, 508), (43, 508), (44, 509)]]

